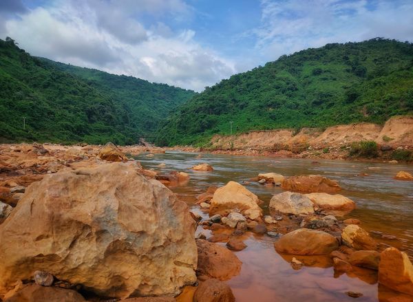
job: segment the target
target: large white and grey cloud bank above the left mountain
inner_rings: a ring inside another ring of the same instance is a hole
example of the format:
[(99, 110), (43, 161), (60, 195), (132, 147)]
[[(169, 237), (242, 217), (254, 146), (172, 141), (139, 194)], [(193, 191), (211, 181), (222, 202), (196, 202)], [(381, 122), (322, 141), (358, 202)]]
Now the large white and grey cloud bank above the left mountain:
[(197, 43), (194, 30), (141, 21), (192, 12), (181, 0), (59, 0), (8, 19), (3, 36), (35, 56), (201, 91), (233, 74), (233, 62)]

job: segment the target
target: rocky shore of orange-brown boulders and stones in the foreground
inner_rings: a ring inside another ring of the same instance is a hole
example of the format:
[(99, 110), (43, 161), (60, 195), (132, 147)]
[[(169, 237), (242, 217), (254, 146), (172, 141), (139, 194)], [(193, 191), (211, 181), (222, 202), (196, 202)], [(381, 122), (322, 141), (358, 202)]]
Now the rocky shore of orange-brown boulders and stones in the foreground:
[[(257, 195), (230, 181), (197, 197), (198, 215), (168, 188), (186, 184), (189, 174), (144, 169), (131, 158), (143, 151), (165, 149), (0, 145), (0, 299), (235, 301), (226, 281), (240, 274), (237, 251), (248, 249), (251, 233), (274, 238), (291, 270), (333, 266), (337, 274), (372, 276), (368, 282), (390, 292), (380, 301), (413, 300), (409, 257), (358, 219), (343, 218), (357, 204), (335, 180), (263, 171), (248, 182), (284, 190), (268, 213)], [(413, 180), (405, 171), (394, 177)]]

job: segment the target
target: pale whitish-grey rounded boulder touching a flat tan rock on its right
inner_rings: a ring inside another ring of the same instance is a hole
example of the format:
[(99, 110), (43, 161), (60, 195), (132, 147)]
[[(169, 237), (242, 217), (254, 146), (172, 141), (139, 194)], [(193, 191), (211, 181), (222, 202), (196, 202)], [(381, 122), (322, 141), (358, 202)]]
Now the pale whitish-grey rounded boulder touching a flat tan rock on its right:
[(283, 192), (274, 195), (270, 200), (270, 208), (285, 214), (312, 214), (314, 205), (306, 195)]

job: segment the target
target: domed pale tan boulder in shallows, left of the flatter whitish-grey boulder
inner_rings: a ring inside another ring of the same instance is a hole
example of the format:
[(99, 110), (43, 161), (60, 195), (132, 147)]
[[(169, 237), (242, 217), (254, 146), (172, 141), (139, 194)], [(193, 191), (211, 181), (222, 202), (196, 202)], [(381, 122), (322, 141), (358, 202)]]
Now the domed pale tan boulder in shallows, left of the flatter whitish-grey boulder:
[(248, 191), (242, 184), (229, 182), (213, 193), (209, 215), (226, 215), (237, 208), (245, 217), (257, 219), (262, 216), (262, 208), (258, 206), (258, 202), (257, 195)]

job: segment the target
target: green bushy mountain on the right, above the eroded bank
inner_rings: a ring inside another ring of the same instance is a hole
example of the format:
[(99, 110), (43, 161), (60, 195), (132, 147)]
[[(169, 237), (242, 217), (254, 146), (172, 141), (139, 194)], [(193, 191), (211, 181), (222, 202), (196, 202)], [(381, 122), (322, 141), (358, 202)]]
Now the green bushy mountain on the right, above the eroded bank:
[(159, 145), (205, 145), (216, 133), (383, 123), (413, 114), (413, 44), (332, 43), (207, 87), (156, 133)]

